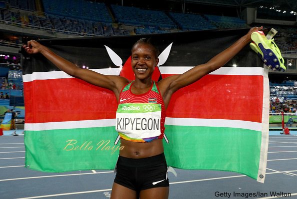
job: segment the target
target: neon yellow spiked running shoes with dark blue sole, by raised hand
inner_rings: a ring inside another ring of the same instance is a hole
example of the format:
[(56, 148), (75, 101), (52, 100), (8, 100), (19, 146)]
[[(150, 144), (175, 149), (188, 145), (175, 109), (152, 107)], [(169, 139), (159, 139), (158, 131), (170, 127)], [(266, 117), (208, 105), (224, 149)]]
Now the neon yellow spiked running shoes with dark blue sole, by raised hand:
[(250, 48), (261, 57), (268, 68), (272, 70), (279, 70), (281, 72), (286, 70), (283, 65), (284, 60), (281, 53), (274, 43), (273, 39), (268, 40), (262, 31), (256, 31), (251, 34)]

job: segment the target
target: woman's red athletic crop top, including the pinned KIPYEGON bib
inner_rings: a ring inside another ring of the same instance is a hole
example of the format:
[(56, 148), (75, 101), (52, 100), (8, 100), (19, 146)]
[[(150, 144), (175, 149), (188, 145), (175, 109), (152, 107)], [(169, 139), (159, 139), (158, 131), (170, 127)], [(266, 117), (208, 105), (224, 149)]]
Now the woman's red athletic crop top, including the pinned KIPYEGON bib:
[(136, 95), (128, 83), (119, 94), (115, 129), (120, 138), (132, 142), (150, 142), (164, 136), (165, 107), (155, 81), (146, 93)]

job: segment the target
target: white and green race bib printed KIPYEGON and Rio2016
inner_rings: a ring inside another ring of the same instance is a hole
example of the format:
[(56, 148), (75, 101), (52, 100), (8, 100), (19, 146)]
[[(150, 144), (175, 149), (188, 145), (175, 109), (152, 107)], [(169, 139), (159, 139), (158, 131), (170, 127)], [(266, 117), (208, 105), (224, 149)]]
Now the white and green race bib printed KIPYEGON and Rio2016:
[(132, 139), (151, 138), (161, 135), (160, 121), (160, 104), (119, 104), (115, 129)]

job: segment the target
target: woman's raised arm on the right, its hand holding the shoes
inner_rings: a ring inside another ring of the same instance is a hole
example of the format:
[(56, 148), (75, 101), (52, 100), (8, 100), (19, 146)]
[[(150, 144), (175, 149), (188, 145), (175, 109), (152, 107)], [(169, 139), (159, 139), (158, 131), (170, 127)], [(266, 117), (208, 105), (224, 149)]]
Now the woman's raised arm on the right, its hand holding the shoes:
[(204, 75), (220, 68), (227, 63), (232, 57), (234, 57), (246, 44), (251, 42), (251, 33), (257, 30), (261, 30), (262, 27), (250, 28), (247, 34), (238, 39), (231, 46), (215, 55), (208, 62), (197, 65), (192, 69), (184, 72), (180, 75), (173, 75), (162, 79), (158, 85), (162, 93), (165, 104), (168, 104), (171, 95), (178, 89), (187, 86)]

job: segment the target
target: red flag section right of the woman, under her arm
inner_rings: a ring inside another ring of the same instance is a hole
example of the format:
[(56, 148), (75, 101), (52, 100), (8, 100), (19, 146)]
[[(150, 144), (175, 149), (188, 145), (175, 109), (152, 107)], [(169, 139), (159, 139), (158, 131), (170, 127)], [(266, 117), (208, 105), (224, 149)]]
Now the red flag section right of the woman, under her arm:
[(262, 82), (262, 75), (206, 75), (172, 95), (166, 116), (261, 122)]

